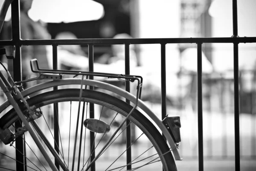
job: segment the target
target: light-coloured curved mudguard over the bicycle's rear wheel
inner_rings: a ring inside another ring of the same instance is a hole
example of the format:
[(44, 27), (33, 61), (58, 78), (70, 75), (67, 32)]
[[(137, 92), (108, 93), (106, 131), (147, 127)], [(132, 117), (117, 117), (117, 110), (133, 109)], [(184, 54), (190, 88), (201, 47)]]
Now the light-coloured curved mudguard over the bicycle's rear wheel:
[[(61, 86), (61, 85), (81, 85), (81, 79), (78, 78), (68, 78), (68, 79), (62, 79), (59, 81), (49, 81), (49, 82), (45, 82), (45, 83), (41, 83), (38, 85), (35, 85), (33, 87), (30, 87), (24, 91), (21, 92), (21, 94), (26, 97), (29, 96), (32, 93), (47, 89), (47, 88), (51, 88), (51, 87), (55, 87), (55, 86)], [(119, 87), (113, 86), (111, 84), (107, 84), (105, 82), (101, 82), (101, 81), (96, 81), (96, 80), (84, 80), (83, 81), (84, 85), (88, 85), (88, 86), (93, 86), (93, 87), (98, 87), (101, 89), (105, 89), (105, 90), (109, 90), (113, 93), (116, 93), (126, 99), (128, 99), (129, 101), (131, 101), (132, 103), (136, 102), (136, 97), (134, 95), (132, 95), (131, 93), (128, 93), (125, 90), (122, 90)], [(6, 109), (6, 107), (8, 107), (10, 105), (9, 101), (5, 101), (1, 106), (0, 106), (0, 113)], [(166, 137), (167, 141), (169, 142), (170, 147), (172, 148), (172, 152), (174, 154), (174, 157), (176, 160), (182, 160), (179, 151), (177, 149), (177, 146), (175, 145), (174, 140), (172, 139), (171, 134), (169, 133), (169, 131), (167, 130), (166, 126), (163, 124), (163, 122), (158, 118), (158, 116), (156, 114), (154, 114), (154, 112), (149, 109), (144, 103), (143, 101), (139, 100), (138, 101), (138, 107), (140, 107), (140, 109), (142, 109), (149, 118), (151, 118), (154, 123), (157, 125), (157, 127), (162, 131), (163, 135)]]

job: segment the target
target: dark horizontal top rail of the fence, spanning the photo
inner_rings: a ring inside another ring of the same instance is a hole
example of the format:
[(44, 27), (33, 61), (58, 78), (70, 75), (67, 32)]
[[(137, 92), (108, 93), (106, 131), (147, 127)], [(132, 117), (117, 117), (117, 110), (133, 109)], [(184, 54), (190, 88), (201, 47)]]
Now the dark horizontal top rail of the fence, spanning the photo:
[(133, 38), (133, 39), (50, 39), (0, 41), (0, 46), (86, 45), (86, 44), (167, 44), (167, 43), (256, 43), (256, 37), (230, 38)]

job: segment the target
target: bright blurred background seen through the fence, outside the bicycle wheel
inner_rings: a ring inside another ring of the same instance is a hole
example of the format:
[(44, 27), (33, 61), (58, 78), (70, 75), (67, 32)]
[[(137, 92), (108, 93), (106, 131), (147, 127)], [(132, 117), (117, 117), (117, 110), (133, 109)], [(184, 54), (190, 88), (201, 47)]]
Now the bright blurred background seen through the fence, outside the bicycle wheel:
[[(22, 18), (21, 14), (21, 21), (37, 23), (21, 26), (22, 39), (198, 38), (233, 35), (232, 0), (63, 0), (61, 4), (58, 0), (35, 0), (33, 3), (32, 0), (21, 1), (25, 2), (21, 8), (26, 16)], [(31, 9), (26, 7), (28, 1)], [(237, 0), (237, 3), (239, 37), (256, 37), (256, 1)], [(8, 20), (10, 15), (1, 34), (2, 40), (10, 39)], [(30, 28), (33, 34), (26, 33), (24, 28)], [(78, 60), (87, 59), (87, 45), (61, 48), (70, 52), (70, 55), (76, 55), (74, 58)], [(205, 170), (234, 170), (233, 44), (204, 43), (202, 48), (204, 167)], [(35, 49), (23, 47), (22, 53), (30, 56), (23, 61), (34, 58)], [(47, 55), (47, 47), (39, 49)], [(145, 79), (142, 99), (161, 117), (160, 44), (131, 45), (130, 50), (131, 74), (142, 75)], [(122, 45), (94, 46), (94, 61), (98, 64), (118, 64), (122, 57)], [(61, 68), (87, 68), (70, 64), (66, 57), (60, 58), (63, 61), (59, 66)], [(119, 73), (122, 68), (116, 67), (113, 71), (113, 68), (107, 67), (104, 72)], [(183, 161), (177, 161), (177, 168), (198, 170), (196, 44), (167, 44), (166, 68), (168, 114), (181, 117), (180, 151)], [(256, 170), (255, 69), (256, 44), (240, 43), (240, 149), (243, 171)], [(96, 67), (95, 71), (101, 70)], [(26, 72), (29, 71), (23, 70), (23, 77), (29, 75)]]

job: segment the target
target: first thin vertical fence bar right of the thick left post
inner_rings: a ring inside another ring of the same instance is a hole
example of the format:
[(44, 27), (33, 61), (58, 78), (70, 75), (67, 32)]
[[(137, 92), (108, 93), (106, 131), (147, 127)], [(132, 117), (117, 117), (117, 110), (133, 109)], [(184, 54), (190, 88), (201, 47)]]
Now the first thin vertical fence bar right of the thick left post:
[[(58, 70), (58, 45), (52, 45), (52, 68), (53, 70)], [(58, 90), (58, 87), (53, 87), (53, 90)], [(60, 154), (59, 151), (59, 123), (58, 123), (58, 103), (53, 104), (53, 127), (54, 127), (54, 149), (55, 151)], [(58, 164), (58, 159), (55, 159), (55, 166), (58, 170), (60, 170), (60, 165)]]

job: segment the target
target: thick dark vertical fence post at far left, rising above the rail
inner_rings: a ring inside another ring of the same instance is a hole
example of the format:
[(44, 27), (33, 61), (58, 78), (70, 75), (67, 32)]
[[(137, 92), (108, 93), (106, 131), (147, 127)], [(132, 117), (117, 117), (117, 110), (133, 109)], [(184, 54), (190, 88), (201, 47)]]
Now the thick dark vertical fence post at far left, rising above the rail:
[[(20, 41), (20, 1), (15, 0), (12, 2), (12, 40), (15, 42), (16, 53), (13, 60), (14, 81), (21, 81), (21, 49)], [(21, 121), (15, 122), (15, 128), (23, 127)], [(24, 137), (24, 136), (23, 136)], [(15, 141), (16, 147), (16, 170), (26, 171), (26, 149), (24, 139), (20, 136)]]

